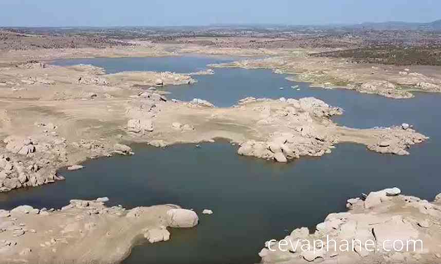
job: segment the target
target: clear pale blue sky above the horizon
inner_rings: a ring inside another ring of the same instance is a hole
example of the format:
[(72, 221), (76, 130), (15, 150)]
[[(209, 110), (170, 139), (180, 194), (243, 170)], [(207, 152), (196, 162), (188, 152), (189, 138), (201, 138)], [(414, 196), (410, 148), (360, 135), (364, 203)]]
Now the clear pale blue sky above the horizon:
[(0, 26), (430, 22), (441, 0), (0, 0)]

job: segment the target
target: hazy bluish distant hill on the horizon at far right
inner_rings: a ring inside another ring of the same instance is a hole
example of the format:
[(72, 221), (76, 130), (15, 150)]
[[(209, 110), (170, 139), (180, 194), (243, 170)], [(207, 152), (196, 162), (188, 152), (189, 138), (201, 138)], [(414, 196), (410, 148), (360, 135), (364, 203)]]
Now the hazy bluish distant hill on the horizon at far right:
[(389, 22), (365, 22), (353, 27), (359, 29), (375, 29), (375, 30), (441, 30), (441, 20), (429, 23), (411, 23), (402, 21)]

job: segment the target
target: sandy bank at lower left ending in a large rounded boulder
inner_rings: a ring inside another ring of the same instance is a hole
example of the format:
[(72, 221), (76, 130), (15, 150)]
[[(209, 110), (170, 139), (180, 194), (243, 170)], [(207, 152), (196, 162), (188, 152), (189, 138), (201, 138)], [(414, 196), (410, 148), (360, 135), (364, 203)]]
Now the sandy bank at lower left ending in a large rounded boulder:
[(167, 241), (167, 227), (197, 224), (193, 211), (177, 205), (126, 210), (105, 206), (104, 198), (71, 200), (61, 210), (29, 205), (0, 210), (0, 263), (117, 263), (140, 237)]

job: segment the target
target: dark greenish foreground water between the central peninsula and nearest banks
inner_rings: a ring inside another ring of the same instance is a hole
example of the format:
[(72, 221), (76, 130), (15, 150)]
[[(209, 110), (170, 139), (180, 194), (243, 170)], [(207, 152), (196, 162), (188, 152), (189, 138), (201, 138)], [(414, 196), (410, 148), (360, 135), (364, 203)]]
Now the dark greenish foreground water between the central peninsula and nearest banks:
[[(60, 208), (72, 198), (101, 196), (126, 208), (176, 203), (198, 212), (200, 224), (171, 230), (168, 242), (135, 247), (124, 263), (254, 263), (266, 240), (314, 228), (360, 193), (398, 185), (406, 194), (433, 198), (441, 180), (438, 165), (419, 167), (424, 148), (397, 157), (342, 144), (330, 155), (281, 165), (237, 156), (223, 142), (137, 145), (135, 156), (90, 160), (81, 171), (62, 171), (64, 182), (2, 195), (0, 206)], [(214, 214), (200, 214), (205, 208)]]

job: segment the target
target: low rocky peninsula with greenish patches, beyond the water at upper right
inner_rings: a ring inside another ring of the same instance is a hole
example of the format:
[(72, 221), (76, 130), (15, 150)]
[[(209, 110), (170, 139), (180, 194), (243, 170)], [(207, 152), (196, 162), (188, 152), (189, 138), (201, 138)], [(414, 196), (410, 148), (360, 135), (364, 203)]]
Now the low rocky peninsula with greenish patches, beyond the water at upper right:
[(290, 55), (211, 66), (272, 69), (275, 73), (292, 75), (288, 80), (310, 82), (316, 87), (351, 89), (394, 99), (412, 98), (412, 92), (441, 92), (441, 74), (436, 67), (353, 64), (308, 54), (314, 51), (300, 50)]

